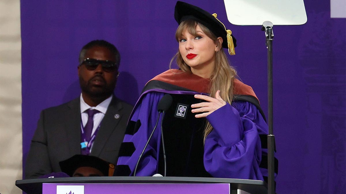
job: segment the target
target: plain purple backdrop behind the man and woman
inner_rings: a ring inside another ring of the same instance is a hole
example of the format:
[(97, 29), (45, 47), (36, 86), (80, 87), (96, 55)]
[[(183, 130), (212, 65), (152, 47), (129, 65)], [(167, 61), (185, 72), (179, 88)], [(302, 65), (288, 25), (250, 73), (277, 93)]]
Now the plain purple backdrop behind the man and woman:
[[(23, 160), (40, 110), (80, 95), (81, 47), (110, 41), (121, 54), (116, 95), (134, 104), (177, 51), (174, 0), (21, 1)], [(267, 112), (267, 50), (260, 26), (234, 26), (224, 2), (186, 0), (218, 14), (237, 38), (229, 57)], [(345, 19), (306, 1), (308, 22), (274, 26), (274, 134), (278, 193), (345, 193)]]

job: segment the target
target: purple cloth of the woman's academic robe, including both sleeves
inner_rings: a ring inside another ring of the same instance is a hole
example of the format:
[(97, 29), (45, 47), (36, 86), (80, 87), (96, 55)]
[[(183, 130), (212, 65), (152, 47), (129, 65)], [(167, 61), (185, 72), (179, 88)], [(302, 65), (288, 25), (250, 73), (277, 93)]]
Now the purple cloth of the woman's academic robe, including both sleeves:
[[(134, 132), (126, 133), (123, 142), (126, 148), (122, 150), (127, 151), (120, 151), (117, 163), (117, 168), (126, 167), (130, 176), (133, 176), (138, 157), (155, 126), (159, 114), (157, 104), (165, 93), (203, 94), (149, 89), (140, 96), (130, 116), (130, 122), (136, 123), (132, 127)], [(203, 163), (206, 171), (212, 177), (263, 180), (263, 176), (267, 176), (267, 169), (260, 167), (260, 163), (262, 154), (266, 154), (267, 149), (261, 147), (259, 134), (268, 134), (268, 126), (260, 110), (248, 101), (233, 101), (231, 105), (226, 104), (217, 109), (206, 119), (213, 127), (204, 145)], [(140, 160), (136, 176), (152, 176), (157, 173), (160, 143), (161, 128), (158, 125)], [(118, 171), (124, 171), (119, 169)]]

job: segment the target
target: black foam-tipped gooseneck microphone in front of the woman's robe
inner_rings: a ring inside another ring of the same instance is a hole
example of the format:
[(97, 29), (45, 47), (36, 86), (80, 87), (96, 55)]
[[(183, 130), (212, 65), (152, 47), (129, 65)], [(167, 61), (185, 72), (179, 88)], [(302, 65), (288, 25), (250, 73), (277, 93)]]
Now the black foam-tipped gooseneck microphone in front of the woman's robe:
[[(149, 138), (148, 138), (148, 140), (147, 140), (147, 143), (145, 144), (145, 146), (144, 146), (144, 148), (143, 148), (142, 153), (139, 155), (139, 158), (138, 158), (138, 161), (137, 161), (137, 164), (136, 164), (136, 167), (135, 167), (135, 171), (134, 171), (134, 173), (133, 173), (133, 176), (136, 176), (136, 172), (137, 172), (137, 168), (138, 168), (138, 164), (139, 164), (140, 158), (142, 158), (142, 155), (143, 155), (143, 153), (144, 153), (144, 151), (145, 151), (145, 148), (147, 148), (147, 146), (148, 146), (148, 144), (149, 144), (149, 141), (150, 141), (151, 137), (152, 137), (153, 134), (154, 134), (154, 131), (155, 131), (156, 127), (157, 127), (158, 119), (160, 118), (161, 113), (164, 113), (164, 111), (166, 111), (166, 110), (171, 106), (172, 101), (173, 101), (172, 96), (169, 95), (169, 94), (165, 94), (165, 95), (161, 98), (161, 100), (158, 102), (158, 104), (157, 104), (157, 111), (159, 112), (159, 114), (158, 114), (158, 116), (157, 116), (157, 120), (156, 120), (155, 127), (154, 127), (154, 129), (153, 129), (153, 132), (150, 134), (150, 136), (149, 136)], [(161, 122), (161, 125), (162, 125), (162, 122)], [(161, 130), (162, 130), (162, 128), (161, 128)], [(161, 137), (162, 137), (162, 139), (163, 139), (162, 133), (161, 133)]]

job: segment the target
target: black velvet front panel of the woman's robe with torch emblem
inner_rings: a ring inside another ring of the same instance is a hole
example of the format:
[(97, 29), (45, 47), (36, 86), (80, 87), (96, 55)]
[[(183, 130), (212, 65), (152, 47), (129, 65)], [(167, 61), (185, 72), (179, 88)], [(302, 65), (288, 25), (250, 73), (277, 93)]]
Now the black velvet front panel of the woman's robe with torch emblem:
[[(171, 95), (173, 103), (165, 112), (162, 124), (166, 176), (211, 177), (203, 165), (203, 132), (206, 119), (195, 118), (195, 113), (191, 113), (191, 105), (202, 100), (194, 98), (193, 95)], [(179, 111), (184, 109), (185, 111)], [(164, 174), (162, 145), (158, 173)]]

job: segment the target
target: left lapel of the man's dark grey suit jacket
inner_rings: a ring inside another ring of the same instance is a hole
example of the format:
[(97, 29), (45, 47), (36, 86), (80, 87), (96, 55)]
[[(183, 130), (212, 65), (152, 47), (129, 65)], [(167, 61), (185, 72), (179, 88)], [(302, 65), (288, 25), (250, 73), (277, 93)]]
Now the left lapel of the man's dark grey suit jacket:
[[(69, 109), (64, 114), (67, 144), (70, 155), (81, 153), (81, 108), (80, 98), (76, 98), (68, 104)], [(64, 141), (64, 140), (63, 140)], [(63, 142), (62, 142), (63, 143)]]

